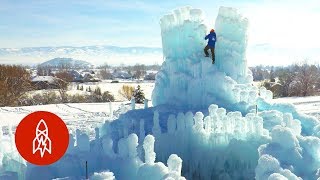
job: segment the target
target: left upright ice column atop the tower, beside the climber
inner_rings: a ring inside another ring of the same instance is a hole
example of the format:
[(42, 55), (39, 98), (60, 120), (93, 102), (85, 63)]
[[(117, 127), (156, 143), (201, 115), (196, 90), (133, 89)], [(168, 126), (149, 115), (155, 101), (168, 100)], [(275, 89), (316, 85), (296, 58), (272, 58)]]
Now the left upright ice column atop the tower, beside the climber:
[[(206, 27), (200, 9), (183, 7), (160, 19), (163, 55), (170, 60), (203, 53)], [(168, 59), (167, 59), (168, 60)]]

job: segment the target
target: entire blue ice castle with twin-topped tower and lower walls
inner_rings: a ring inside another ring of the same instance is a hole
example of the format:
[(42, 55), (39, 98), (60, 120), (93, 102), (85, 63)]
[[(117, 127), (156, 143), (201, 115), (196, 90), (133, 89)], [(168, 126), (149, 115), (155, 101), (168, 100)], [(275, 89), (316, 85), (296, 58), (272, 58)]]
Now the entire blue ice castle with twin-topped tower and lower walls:
[(85, 161), (91, 179), (318, 179), (319, 120), (271, 103), (270, 91), (252, 85), (248, 19), (221, 7), (215, 23), (212, 65), (203, 54), (202, 11), (165, 15), (154, 107), (135, 110), (133, 103), (91, 141), (70, 134), (66, 155), (46, 167), (26, 164), (10, 146), (12, 135), (0, 136), (0, 179), (84, 179)]

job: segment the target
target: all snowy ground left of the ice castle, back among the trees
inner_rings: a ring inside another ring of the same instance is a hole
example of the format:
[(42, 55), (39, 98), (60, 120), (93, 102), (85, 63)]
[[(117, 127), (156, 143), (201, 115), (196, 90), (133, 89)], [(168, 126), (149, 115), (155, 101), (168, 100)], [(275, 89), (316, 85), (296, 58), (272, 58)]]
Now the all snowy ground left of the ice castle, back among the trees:
[[(136, 82), (136, 81), (120, 81), (119, 83), (111, 83), (111, 81), (102, 81), (96, 83), (81, 83), (84, 91), (77, 90), (77, 84), (70, 85), (69, 94), (86, 94), (85, 89), (90, 86), (93, 91), (96, 87), (100, 87), (101, 91), (109, 91), (115, 96), (117, 102), (112, 103), (68, 103), (68, 104), (49, 104), (37, 106), (23, 106), (23, 107), (0, 107), (0, 127), (12, 126), (13, 130), (19, 122), (29, 113), (34, 111), (50, 111), (61, 117), (67, 124), (71, 132), (80, 129), (87, 132), (90, 138), (94, 137), (94, 128), (102, 125), (105, 121), (111, 121), (120, 113), (120, 107), (125, 105), (125, 109), (129, 110), (130, 102), (126, 101), (124, 97), (119, 94), (119, 90), (123, 85), (130, 85), (133, 87), (141, 86), (147, 99), (151, 99), (153, 82)], [(54, 91), (54, 90), (50, 90)], [(44, 90), (33, 91), (32, 94), (43, 93)], [(112, 106), (110, 109), (110, 105)], [(149, 101), (149, 106), (152, 103)], [(137, 104), (136, 108), (143, 108), (144, 105)], [(111, 116), (110, 112), (113, 112)]]

